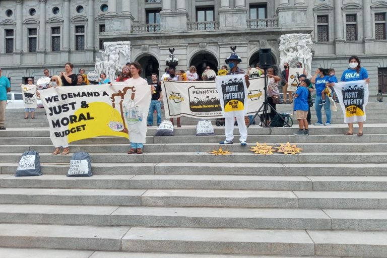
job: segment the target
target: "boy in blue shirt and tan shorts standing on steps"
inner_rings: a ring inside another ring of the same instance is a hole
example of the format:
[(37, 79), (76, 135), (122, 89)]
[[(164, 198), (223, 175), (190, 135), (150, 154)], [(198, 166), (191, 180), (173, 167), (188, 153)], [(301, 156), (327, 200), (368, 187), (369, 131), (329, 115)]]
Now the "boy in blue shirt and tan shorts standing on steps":
[(297, 133), (294, 135), (309, 135), (308, 130), (308, 121), (306, 117), (308, 115), (308, 86), (310, 85), (310, 80), (305, 79), (300, 82), (300, 87), (298, 87), (294, 96), (296, 97), (294, 100), (294, 111), (296, 111), (296, 117), (298, 120), (298, 125), (300, 126)]

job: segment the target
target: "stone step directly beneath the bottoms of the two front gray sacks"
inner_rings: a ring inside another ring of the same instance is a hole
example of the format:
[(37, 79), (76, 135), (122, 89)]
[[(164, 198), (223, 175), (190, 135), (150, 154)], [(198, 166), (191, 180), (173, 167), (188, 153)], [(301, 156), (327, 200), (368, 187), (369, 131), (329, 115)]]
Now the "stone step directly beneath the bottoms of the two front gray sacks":
[(1, 174), (0, 187), (111, 189), (236, 189), (383, 191), (387, 176), (263, 176), (263, 175), (94, 175), (15, 177)]

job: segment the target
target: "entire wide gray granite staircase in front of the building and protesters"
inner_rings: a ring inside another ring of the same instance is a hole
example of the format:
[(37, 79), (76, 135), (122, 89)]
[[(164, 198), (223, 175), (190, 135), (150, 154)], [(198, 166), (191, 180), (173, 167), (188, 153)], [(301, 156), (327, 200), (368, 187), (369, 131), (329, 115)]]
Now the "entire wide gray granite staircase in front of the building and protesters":
[[(310, 136), (293, 136), (296, 125), (271, 134), (252, 125), (248, 146), (236, 136), (226, 156), (208, 154), (224, 128), (195, 137), (191, 118), (173, 137), (149, 127), (143, 155), (127, 155), (123, 138), (82, 140), (71, 153), (89, 152), (94, 175), (78, 178), (66, 177), (71, 154), (51, 156), (44, 110), (34, 120), (7, 110), (0, 257), (386, 257), (386, 109), (369, 103), (377, 123), (362, 137), (343, 135), (341, 111), (331, 126), (311, 125)], [(303, 150), (255, 155), (256, 142)], [(26, 150), (40, 153), (42, 176), (14, 177)]]

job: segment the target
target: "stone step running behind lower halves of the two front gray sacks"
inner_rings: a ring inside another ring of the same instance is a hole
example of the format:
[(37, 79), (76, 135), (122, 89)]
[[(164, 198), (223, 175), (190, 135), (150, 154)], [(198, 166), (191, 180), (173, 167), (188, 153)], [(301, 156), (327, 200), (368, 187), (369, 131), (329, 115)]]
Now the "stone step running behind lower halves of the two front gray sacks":
[[(18, 163), (0, 163), (0, 172), (14, 174)], [(201, 175), (295, 175), (386, 176), (385, 163), (92, 163), (94, 175), (201, 174)], [(44, 175), (66, 175), (69, 163), (41, 164)], [(1, 174), (0, 173), (0, 174)]]

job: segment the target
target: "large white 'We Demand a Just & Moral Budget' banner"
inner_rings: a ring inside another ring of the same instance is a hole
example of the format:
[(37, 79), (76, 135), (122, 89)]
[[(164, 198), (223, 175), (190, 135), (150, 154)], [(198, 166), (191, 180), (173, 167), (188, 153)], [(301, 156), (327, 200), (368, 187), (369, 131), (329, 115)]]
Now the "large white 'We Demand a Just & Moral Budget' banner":
[(151, 102), (147, 86), (69, 86), (39, 93), (55, 147), (97, 136), (119, 136), (145, 143)]

